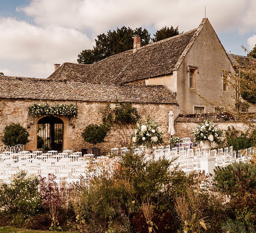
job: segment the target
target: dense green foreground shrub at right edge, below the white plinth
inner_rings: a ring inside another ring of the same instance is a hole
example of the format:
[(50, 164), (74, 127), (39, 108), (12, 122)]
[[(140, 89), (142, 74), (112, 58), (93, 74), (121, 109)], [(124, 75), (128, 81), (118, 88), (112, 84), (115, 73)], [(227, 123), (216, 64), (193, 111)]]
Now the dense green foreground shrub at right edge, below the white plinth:
[(234, 162), (226, 167), (216, 167), (214, 171), (215, 185), (224, 193), (249, 192), (256, 187), (256, 167), (251, 163)]

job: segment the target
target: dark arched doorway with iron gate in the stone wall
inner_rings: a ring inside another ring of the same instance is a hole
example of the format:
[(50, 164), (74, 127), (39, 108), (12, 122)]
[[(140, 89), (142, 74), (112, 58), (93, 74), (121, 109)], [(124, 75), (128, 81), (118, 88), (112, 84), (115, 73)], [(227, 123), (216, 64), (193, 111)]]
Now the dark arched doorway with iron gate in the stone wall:
[(37, 122), (37, 149), (63, 150), (63, 121), (56, 116), (45, 116)]

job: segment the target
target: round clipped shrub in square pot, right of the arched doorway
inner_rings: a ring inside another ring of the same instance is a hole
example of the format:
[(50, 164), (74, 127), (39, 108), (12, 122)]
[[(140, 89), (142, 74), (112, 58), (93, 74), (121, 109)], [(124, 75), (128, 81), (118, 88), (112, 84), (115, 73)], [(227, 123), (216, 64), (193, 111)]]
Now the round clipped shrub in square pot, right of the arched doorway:
[(93, 144), (93, 148), (88, 148), (88, 154), (94, 154), (96, 157), (100, 156), (100, 148), (95, 148), (97, 143), (104, 141), (108, 132), (108, 128), (104, 124), (89, 124), (82, 132), (82, 137), (86, 142)]

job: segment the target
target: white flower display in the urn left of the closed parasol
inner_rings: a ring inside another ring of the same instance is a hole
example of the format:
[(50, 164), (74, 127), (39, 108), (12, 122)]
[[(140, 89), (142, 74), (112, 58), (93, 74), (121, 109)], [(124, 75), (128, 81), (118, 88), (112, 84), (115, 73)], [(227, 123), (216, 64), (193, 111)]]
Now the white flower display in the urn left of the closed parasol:
[(137, 122), (137, 128), (132, 133), (132, 141), (137, 146), (159, 145), (163, 142), (163, 132), (158, 122), (148, 116), (144, 124), (141, 121)]

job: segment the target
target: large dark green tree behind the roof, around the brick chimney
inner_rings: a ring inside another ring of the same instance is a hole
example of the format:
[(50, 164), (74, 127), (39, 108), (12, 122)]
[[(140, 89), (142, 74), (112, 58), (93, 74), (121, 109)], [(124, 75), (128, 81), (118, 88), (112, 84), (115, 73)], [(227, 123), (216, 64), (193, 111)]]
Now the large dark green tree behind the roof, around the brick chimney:
[(133, 48), (133, 37), (138, 35), (141, 37), (141, 46), (149, 44), (150, 33), (144, 28), (117, 28), (108, 31), (107, 34), (102, 33), (95, 39), (96, 45), (93, 49), (83, 50), (79, 55), (77, 62), (79, 64), (92, 64), (101, 61), (112, 55), (122, 53)]

